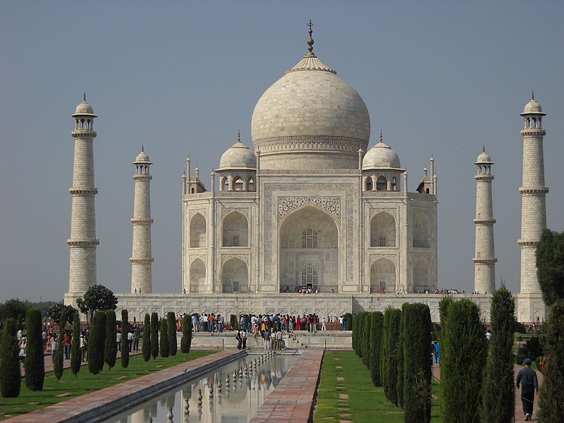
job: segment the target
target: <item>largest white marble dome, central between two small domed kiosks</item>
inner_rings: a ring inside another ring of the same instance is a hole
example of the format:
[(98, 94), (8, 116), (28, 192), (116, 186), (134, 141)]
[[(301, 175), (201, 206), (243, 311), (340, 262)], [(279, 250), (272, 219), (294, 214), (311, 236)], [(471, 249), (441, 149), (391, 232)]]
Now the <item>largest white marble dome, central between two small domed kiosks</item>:
[(261, 168), (357, 168), (370, 117), (355, 89), (310, 51), (262, 94), (251, 132)]

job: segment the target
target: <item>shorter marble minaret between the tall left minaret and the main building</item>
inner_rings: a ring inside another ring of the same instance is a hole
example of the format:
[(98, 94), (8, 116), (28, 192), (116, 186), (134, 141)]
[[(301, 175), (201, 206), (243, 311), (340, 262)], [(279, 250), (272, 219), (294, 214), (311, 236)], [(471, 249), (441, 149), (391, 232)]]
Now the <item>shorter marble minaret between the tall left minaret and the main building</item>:
[(133, 252), (131, 262), (131, 293), (150, 294), (152, 288), (151, 266), (151, 196), (149, 182), (152, 176), (149, 167), (152, 165), (149, 156), (141, 148), (133, 162), (135, 166), (135, 200), (133, 206)]

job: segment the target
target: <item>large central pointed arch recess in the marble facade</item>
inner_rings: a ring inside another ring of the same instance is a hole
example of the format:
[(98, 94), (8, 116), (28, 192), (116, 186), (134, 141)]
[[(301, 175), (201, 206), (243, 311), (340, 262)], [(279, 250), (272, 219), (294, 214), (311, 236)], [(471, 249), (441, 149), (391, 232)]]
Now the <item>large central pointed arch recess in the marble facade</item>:
[[(338, 292), (339, 235), (334, 216), (307, 205), (286, 216), (278, 233), (278, 288), (311, 285)], [(315, 275), (315, 276), (314, 276)]]

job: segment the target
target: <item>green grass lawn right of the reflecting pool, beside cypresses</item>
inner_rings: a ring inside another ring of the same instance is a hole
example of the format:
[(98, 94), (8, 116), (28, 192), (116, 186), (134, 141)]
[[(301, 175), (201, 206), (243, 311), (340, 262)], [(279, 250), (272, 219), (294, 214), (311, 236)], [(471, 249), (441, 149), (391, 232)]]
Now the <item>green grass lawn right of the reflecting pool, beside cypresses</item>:
[[(433, 381), (431, 422), (439, 422), (439, 384)], [(348, 396), (348, 397), (347, 397)], [(403, 422), (403, 410), (372, 384), (370, 372), (353, 351), (325, 354), (317, 396), (314, 423)]]

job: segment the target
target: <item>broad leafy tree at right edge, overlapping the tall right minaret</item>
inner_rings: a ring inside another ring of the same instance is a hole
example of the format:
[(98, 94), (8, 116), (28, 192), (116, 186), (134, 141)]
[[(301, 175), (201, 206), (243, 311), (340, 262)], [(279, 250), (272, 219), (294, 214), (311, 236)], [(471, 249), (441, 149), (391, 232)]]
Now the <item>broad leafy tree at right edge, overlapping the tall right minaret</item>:
[(545, 229), (537, 244), (537, 278), (548, 307), (564, 299), (564, 232)]

